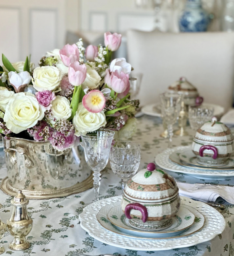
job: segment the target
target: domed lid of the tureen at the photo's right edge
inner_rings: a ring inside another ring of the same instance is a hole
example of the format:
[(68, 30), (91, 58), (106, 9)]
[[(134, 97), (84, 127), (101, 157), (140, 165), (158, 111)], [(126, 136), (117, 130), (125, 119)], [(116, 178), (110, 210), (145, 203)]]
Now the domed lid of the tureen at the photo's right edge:
[(233, 141), (233, 135), (225, 124), (214, 120), (203, 124), (197, 130), (194, 139), (207, 142), (231, 142)]

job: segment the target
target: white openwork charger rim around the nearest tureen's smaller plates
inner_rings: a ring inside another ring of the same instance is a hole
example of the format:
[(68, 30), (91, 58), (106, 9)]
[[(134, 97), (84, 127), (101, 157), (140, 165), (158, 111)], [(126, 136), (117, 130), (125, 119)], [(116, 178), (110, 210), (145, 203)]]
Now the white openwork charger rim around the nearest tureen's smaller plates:
[(79, 215), (81, 227), (86, 230), (90, 236), (102, 243), (139, 251), (162, 251), (194, 246), (215, 238), (215, 236), (221, 234), (225, 228), (224, 217), (213, 207), (182, 196), (181, 203), (183, 205), (188, 205), (204, 215), (206, 221), (201, 230), (190, 236), (160, 240), (146, 240), (122, 236), (103, 228), (96, 218), (98, 212), (104, 206), (119, 202), (121, 199), (122, 196), (109, 197), (86, 206), (84, 211)]

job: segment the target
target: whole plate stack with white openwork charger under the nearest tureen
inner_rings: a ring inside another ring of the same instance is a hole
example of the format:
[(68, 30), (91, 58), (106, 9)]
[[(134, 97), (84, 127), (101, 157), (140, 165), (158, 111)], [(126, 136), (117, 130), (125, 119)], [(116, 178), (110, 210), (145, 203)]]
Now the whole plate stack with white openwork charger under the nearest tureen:
[(181, 197), (181, 207), (170, 227), (161, 231), (139, 230), (121, 208), (122, 196), (94, 202), (79, 215), (81, 227), (108, 245), (142, 251), (160, 251), (197, 245), (223, 232), (225, 220), (213, 207)]

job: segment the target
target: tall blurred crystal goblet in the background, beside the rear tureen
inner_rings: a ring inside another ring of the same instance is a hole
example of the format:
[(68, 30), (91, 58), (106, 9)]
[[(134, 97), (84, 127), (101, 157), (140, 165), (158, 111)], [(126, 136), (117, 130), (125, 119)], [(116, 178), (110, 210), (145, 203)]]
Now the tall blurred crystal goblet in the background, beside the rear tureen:
[(183, 96), (179, 94), (163, 93), (160, 95), (160, 100), (162, 104), (162, 116), (165, 122), (169, 135), (168, 147), (172, 147), (172, 137), (173, 137), (173, 124), (179, 117), (179, 112), (181, 110), (181, 101)]

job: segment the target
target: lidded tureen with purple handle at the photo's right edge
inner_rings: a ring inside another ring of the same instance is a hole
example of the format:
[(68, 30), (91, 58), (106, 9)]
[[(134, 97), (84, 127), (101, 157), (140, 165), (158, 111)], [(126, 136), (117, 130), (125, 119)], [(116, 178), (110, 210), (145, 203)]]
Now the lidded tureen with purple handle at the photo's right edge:
[(208, 121), (197, 130), (192, 143), (197, 162), (208, 166), (222, 166), (234, 152), (231, 130), (217, 120)]

